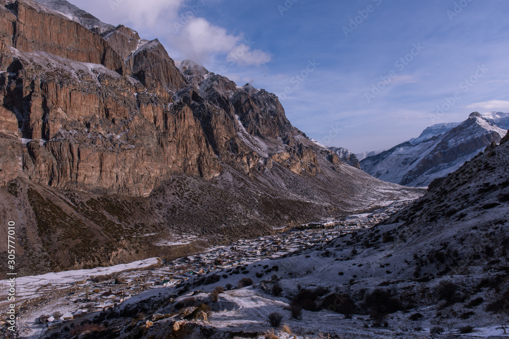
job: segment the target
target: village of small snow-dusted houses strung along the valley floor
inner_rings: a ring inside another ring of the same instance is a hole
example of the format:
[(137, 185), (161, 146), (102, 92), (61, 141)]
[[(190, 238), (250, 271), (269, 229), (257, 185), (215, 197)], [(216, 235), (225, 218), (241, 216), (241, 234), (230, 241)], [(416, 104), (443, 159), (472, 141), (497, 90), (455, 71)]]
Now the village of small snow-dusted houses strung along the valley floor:
[[(215, 270), (227, 269), (230, 275), (239, 274), (241, 279), (242, 273), (247, 273), (243, 270), (245, 265), (282, 258), (327, 243), (342, 234), (370, 228), (410, 203), (411, 200), (397, 201), (371, 213), (350, 215), (344, 220), (303, 224), (276, 235), (238, 240), (229, 246), (217, 246), (172, 262), (161, 262), (157, 258), (141, 269), (130, 268), (100, 275), (90, 273), (74, 281), (55, 278), (39, 285), (33, 294), (19, 299), (18, 318), (35, 314), (38, 315), (36, 319), (23, 319), (23, 322), (27, 325), (33, 323), (39, 330), (41, 327), (53, 329), (84, 315), (108, 310), (142, 291), (172, 287)], [(181, 236), (179, 243), (195, 240), (193, 235)], [(5, 281), (0, 284), (2, 293), (5, 293), (8, 284)], [(44, 305), (43, 313), (34, 310)], [(7, 305), (4, 302), (0, 307), (3, 309)]]

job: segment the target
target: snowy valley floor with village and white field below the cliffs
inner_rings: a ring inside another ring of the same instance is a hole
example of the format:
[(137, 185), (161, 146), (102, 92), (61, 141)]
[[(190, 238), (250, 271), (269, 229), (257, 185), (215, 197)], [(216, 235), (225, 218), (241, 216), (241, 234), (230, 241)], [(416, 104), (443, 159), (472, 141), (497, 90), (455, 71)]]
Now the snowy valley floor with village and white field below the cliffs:
[[(249, 273), (245, 269), (246, 265), (262, 262), (270, 265), (271, 260), (295, 255), (330, 243), (336, 237), (369, 229), (408, 206), (411, 201), (391, 202), (371, 213), (352, 214), (341, 221), (305, 224), (275, 235), (239, 240), (228, 246), (214, 247), (173, 261), (152, 258), (126, 265), (17, 278), (16, 304), (20, 307), (17, 318), (20, 337), (39, 337), (47, 330), (51, 333), (64, 327), (67, 321), (59, 320), (58, 317), (53, 317), (53, 322), (44, 320), (41, 323), (41, 318), (46, 319), (54, 313), (74, 315), (78, 312), (72, 322), (76, 324), (76, 320), (79, 322), (96, 316), (143, 291), (161, 294), (161, 288), (182, 285), (186, 281), (220, 270), (227, 270), (231, 272), (230, 275), (234, 274), (241, 279)], [(185, 235), (176, 236), (174, 240), (163, 245), (197, 241), (195, 236)], [(0, 295), (6, 295), (8, 289), (9, 282), (0, 281)], [(0, 302), (0, 310), (6, 312), (8, 304), (6, 301)]]

